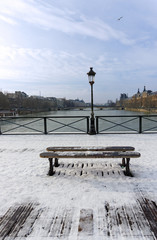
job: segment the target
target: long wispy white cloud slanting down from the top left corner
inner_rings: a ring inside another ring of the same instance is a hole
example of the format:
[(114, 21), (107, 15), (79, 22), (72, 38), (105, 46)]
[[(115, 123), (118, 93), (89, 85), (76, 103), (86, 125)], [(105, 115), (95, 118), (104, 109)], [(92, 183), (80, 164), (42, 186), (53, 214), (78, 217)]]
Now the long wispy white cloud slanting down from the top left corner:
[(5, 13), (3, 20), (8, 23), (23, 20), (47, 30), (58, 30), (67, 34), (80, 34), (99, 40), (116, 39), (123, 44), (133, 44), (122, 31), (118, 31), (98, 18), (89, 19), (85, 16), (76, 16), (67, 9), (60, 10), (53, 5), (45, 5), (31, 0), (5, 0), (1, 3), (1, 13)]

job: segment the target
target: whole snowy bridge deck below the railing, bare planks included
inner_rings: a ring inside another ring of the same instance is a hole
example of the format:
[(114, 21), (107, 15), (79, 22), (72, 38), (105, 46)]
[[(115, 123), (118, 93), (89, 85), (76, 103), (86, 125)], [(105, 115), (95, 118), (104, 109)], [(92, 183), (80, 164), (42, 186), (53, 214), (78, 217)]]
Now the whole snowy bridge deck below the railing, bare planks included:
[[(157, 239), (157, 135), (0, 136), (0, 239)], [(120, 160), (63, 159), (52, 177), (48, 146), (130, 145)]]

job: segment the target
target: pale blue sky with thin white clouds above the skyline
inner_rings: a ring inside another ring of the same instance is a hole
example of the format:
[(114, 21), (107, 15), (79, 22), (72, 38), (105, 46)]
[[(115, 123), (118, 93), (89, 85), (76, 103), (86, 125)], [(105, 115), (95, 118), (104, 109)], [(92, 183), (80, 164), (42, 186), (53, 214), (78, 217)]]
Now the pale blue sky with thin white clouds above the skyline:
[(90, 67), (95, 103), (157, 91), (157, 1), (0, 0), (1, 91), (88, 102)]

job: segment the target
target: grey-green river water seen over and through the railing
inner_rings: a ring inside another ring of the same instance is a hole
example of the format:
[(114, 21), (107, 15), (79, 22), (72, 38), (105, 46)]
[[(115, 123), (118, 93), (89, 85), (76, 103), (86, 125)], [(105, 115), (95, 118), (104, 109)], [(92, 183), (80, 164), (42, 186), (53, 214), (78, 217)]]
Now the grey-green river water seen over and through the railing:
[[(1, 132), (10, 133), (87, 133), (90, 108), (29, 114), (1, 120)], [(94, 108), (99, 133), (157, 132), (157, 115), (142, 112)], [(142, 116), (142, 119), (139, 117)]]

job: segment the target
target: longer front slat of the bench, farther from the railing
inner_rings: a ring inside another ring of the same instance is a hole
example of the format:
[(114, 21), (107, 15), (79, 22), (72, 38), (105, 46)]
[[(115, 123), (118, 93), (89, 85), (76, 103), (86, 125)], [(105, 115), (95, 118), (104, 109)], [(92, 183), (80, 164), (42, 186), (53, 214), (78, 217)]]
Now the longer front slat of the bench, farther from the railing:
[(138, 158), (139, 152), (43, 152), (41, 158)]

